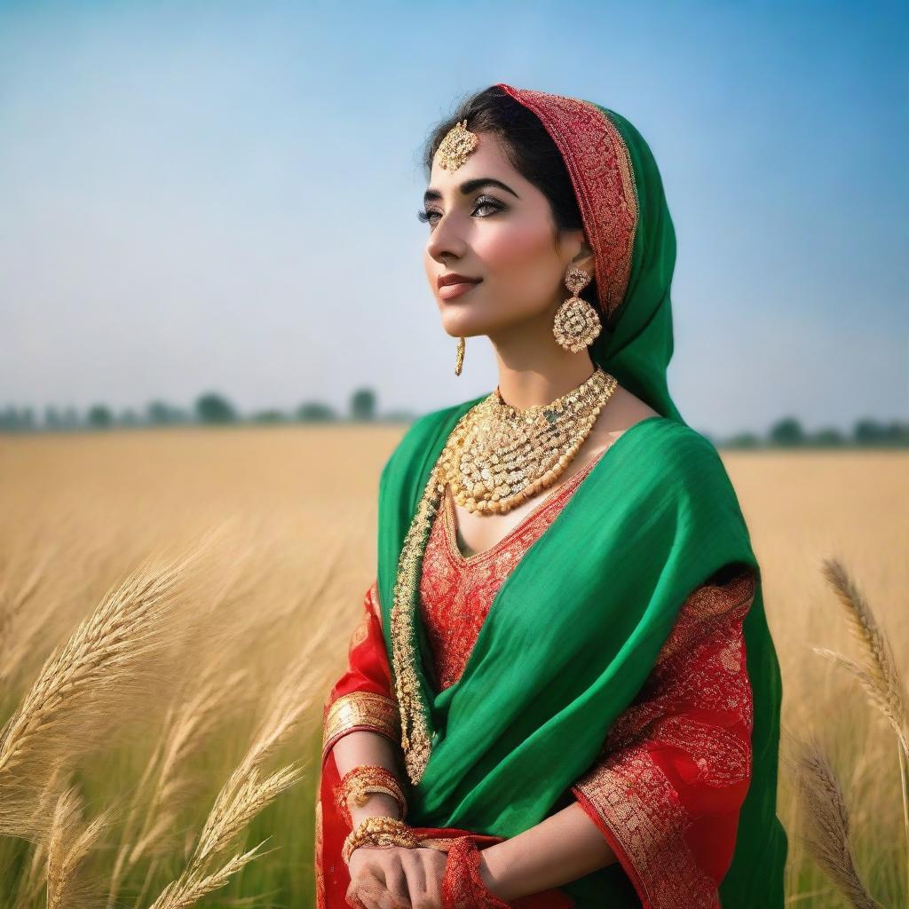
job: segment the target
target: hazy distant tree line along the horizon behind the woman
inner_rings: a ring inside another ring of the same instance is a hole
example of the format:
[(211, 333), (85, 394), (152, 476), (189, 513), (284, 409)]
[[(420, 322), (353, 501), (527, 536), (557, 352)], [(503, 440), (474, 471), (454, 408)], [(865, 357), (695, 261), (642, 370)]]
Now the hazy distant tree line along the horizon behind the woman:
[[(115, 411), (95, 404), (79, 411), (75, 407), (45, 407), (38, 415), (32, 407), (7, 405), (0, 408), (0, 432), (65, 431), (109, 429), (114, 427), (175, 425), (256, 425), (283, 423), (409, 423), (415, 414), (406, 410), (380, 414), (375, 392), (358, 388), (350, 396), (345, 412), (339, 412), (321, 401), (304, 401), (293, 411), (268, 408), (248, 415), (241, 414), (224, 395), (206, 392), (190, 407), (179, 407), (165, 401), (152, 401), (143, 410), (126, 408)], [(808, 432), (794, 416), (786, 416), (771, 425), (764, 435), (738, 433), (720, 438), (702, 431), (724, 448), (837, 448), (854, 446), (901, 447), (909, 445), (909, 422), (882, 422), (870, 418), (856, 420), (850, 431), (833, 426)]]

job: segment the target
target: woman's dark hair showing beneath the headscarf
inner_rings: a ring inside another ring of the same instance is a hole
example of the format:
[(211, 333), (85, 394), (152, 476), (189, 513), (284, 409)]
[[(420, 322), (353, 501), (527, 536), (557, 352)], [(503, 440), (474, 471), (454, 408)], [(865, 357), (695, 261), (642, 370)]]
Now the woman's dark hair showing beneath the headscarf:
[[(564, 231), (584, 229), (571, 176), (553, 137), (532, 111), (497, 85), (468, 95), (454, 114), (435, 125), (423, 153), (427, 179), (439, 145), (448, 131), (462, 120), (467, 121), (471, 132), (495, 135), (509, 164), (549, 200), (554, 238), (557, 239)], [(599, 310), (595, 278), (584, 288), (581, 296)]]

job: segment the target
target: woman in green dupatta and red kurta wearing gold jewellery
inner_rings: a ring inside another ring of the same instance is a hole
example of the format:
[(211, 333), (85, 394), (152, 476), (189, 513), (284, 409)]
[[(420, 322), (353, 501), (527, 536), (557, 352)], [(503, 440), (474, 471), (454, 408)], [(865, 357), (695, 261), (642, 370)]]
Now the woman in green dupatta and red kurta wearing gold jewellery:
[(666, 385), (650, 149), (500, 83), (425, 164), (455, 371), (486, 335), (499, 382), (382, 472), (325, 701), (319, 905), (782, 907), (779, 666), (732, 484)]

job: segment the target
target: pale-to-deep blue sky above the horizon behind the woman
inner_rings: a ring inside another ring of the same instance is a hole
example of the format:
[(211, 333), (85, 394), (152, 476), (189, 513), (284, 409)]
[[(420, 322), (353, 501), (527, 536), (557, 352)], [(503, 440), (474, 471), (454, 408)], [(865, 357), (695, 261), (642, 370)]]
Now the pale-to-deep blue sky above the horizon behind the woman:
[(653, 149), (689, 424), (904, 419), (907, 48), (895, 3), (0, 0), (0, 405), (492, 390), (415, 211), (432, 125), (504, 81)]

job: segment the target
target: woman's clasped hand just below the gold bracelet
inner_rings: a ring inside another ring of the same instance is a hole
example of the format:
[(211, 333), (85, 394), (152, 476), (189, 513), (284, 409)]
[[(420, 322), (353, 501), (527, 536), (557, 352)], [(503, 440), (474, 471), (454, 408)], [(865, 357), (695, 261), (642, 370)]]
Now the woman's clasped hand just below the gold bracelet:
[(445, 853), (404, 846), (358, 846), (345, 898), (356, 909), (442, 909)]

